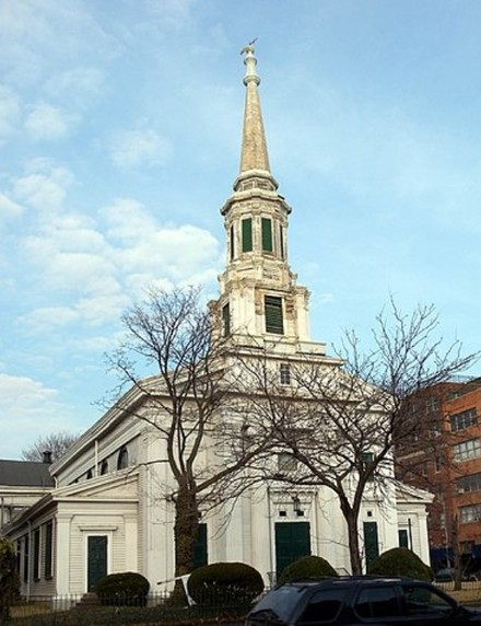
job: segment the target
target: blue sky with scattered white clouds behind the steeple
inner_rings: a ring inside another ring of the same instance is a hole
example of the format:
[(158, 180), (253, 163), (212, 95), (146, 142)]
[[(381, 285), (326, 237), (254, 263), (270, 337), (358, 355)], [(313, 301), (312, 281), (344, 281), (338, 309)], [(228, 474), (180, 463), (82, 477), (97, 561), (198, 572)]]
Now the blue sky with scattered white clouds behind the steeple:
[(478, 0), (0, 0), (0, 457), (101, 416), (148, 286), (216, 294), (254, 37), (313, 338), (367, 336), (392, 294), (478, 350), (480, 24)]

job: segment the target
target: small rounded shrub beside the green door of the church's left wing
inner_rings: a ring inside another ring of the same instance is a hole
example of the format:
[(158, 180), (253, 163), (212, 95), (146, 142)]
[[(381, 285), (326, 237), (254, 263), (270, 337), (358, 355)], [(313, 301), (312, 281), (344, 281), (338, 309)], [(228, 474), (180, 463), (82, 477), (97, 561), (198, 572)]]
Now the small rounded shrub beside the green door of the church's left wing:
[(95, 589), (102, 604), (108, 606), (144, 606), (150, 583), (136, 571), (104, 576)]

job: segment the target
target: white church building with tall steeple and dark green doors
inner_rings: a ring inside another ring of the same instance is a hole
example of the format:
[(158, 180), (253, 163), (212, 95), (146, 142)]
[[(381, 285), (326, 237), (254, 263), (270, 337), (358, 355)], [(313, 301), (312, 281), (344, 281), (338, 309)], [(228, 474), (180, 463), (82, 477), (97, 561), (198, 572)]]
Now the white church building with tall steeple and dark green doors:
[[(211, 303), (216, 323), (235, 328), (237, 345), (271, 346), (280, 375), (302, 358), (329, 364), (326, 345), (313, 341), (309, 292), (289, 265), (291, 208), (271, 174), (254, 48), (245, 49), (245, 119), (241, 170), (221, 209), (226, 266)], [(224, 328), (225, 329), (225, 328)], [(175, 571), (174, 506), (159, 485), (174, 485), (165, 441), (122, 407), (143, 402), (130, 390), (71, 449), (49, 466), (55, 486), (25, 508), (4, 532), (17, 546), (22, 594), (83, 594), (106, 573), (139, 571), (153, 591)], [(259, 490), (260, 489), (260, 490)], [(359, 520), (364, 553), (399, 545), (429, 563), (430, 495), (396, 487), (387, 501), (368, 490)], [(228, 518), (219, 510), (200, 520), (198, 564), (244, 561), (266, 583), (306, 554), (350, 571), (347, 528), (336, 496), (326, 487), (293, 490), (280, 482), (246, 491)], [(369, 543), (369, 545), (367, 545)], [(168, 587), (168, 583), (167, 583)]]

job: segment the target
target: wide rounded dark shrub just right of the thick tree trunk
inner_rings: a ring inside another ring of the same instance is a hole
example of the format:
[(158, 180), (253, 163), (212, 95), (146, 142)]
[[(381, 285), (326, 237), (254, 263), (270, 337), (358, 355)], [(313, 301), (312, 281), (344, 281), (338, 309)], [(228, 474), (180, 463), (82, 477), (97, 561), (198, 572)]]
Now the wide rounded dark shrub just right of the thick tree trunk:
[(263, 581), (245, 563), (213, 563), (195, 569), (187, 589), (197, 604), (225, 606), (251, 602), (263, 591)]

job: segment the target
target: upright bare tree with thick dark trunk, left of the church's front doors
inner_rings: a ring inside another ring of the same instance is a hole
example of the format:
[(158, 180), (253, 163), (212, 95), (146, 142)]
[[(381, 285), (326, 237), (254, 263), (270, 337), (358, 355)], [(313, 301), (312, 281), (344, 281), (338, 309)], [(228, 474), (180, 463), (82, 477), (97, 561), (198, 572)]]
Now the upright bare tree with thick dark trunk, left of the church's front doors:
[[(249, 486), (243, 471), (269, 440), (242, 444), (242, 418), (231, 394), (233, 372), (199, 289), (151, 289), (144, 302), (122, 316), (122, 324), (126, 339), (107, 359), (121, 389), (133, 386), (144, 398), (140, 406), (122, 404), (122, 410), (148, 422), (165, 441), (175, 482), (165, 497), (175, 506), (176, 576), (183, 576), (192, 568), (201, 510)], [(142, 378), (139, 368), (156, 373)]]

